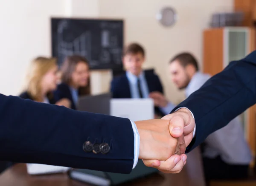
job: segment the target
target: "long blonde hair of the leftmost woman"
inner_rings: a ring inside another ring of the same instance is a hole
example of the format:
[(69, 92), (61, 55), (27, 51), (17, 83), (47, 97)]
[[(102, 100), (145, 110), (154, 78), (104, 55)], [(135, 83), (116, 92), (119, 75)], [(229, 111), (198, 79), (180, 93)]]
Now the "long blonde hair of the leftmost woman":
[(32, 96), (34, 101), (43, 102), (42, 98), (42, 87), (41, 81), (43, 76), (52, 68), (56, 66), (55, 58), (47, 58), (39, 56), (35, 58), (31, 65), (26, 76), (26, 91)]

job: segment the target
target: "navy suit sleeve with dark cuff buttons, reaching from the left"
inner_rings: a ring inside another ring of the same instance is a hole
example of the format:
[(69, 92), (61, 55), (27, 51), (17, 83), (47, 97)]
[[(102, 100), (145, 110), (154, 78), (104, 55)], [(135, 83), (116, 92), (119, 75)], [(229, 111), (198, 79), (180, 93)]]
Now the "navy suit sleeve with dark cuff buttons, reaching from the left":
[[(107, 154), (84, 152), (108, 143)], [(79, 112), (0, 94), (0, 160), (129, 173), (134, 133), (127, 118)]]

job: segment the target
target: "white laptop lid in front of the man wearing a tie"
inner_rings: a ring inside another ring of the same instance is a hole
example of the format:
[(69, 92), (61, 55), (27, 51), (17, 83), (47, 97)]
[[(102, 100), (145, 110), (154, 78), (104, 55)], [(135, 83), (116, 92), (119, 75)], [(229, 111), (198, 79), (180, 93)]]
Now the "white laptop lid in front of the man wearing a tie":
[(150, 98), (111, 99), (110, 115), (132, 121), (154, 119), (154, 101)]

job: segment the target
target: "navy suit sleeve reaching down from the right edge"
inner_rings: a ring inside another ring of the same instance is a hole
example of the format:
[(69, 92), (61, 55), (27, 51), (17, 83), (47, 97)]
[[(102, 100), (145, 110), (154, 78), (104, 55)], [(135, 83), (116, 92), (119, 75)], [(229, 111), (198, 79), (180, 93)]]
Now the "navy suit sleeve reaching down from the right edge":
[(187, 152), (255, 103), (256, 52), (253, 52), (245, 59), (231, 62), (172, 110), (187, 107), (195, 116), (195, 140)]

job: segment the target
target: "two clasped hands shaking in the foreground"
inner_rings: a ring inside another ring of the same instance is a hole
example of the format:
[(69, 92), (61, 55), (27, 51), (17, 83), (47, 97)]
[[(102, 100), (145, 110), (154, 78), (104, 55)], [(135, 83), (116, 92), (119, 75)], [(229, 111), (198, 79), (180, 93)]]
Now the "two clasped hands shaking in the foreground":
[(186, 147), (193, 138), (195, 119), (181, 108), (162, 119), (135, 122), (140, 134), (139, 159), (164, 173), (179, 173), (186, 164)]

